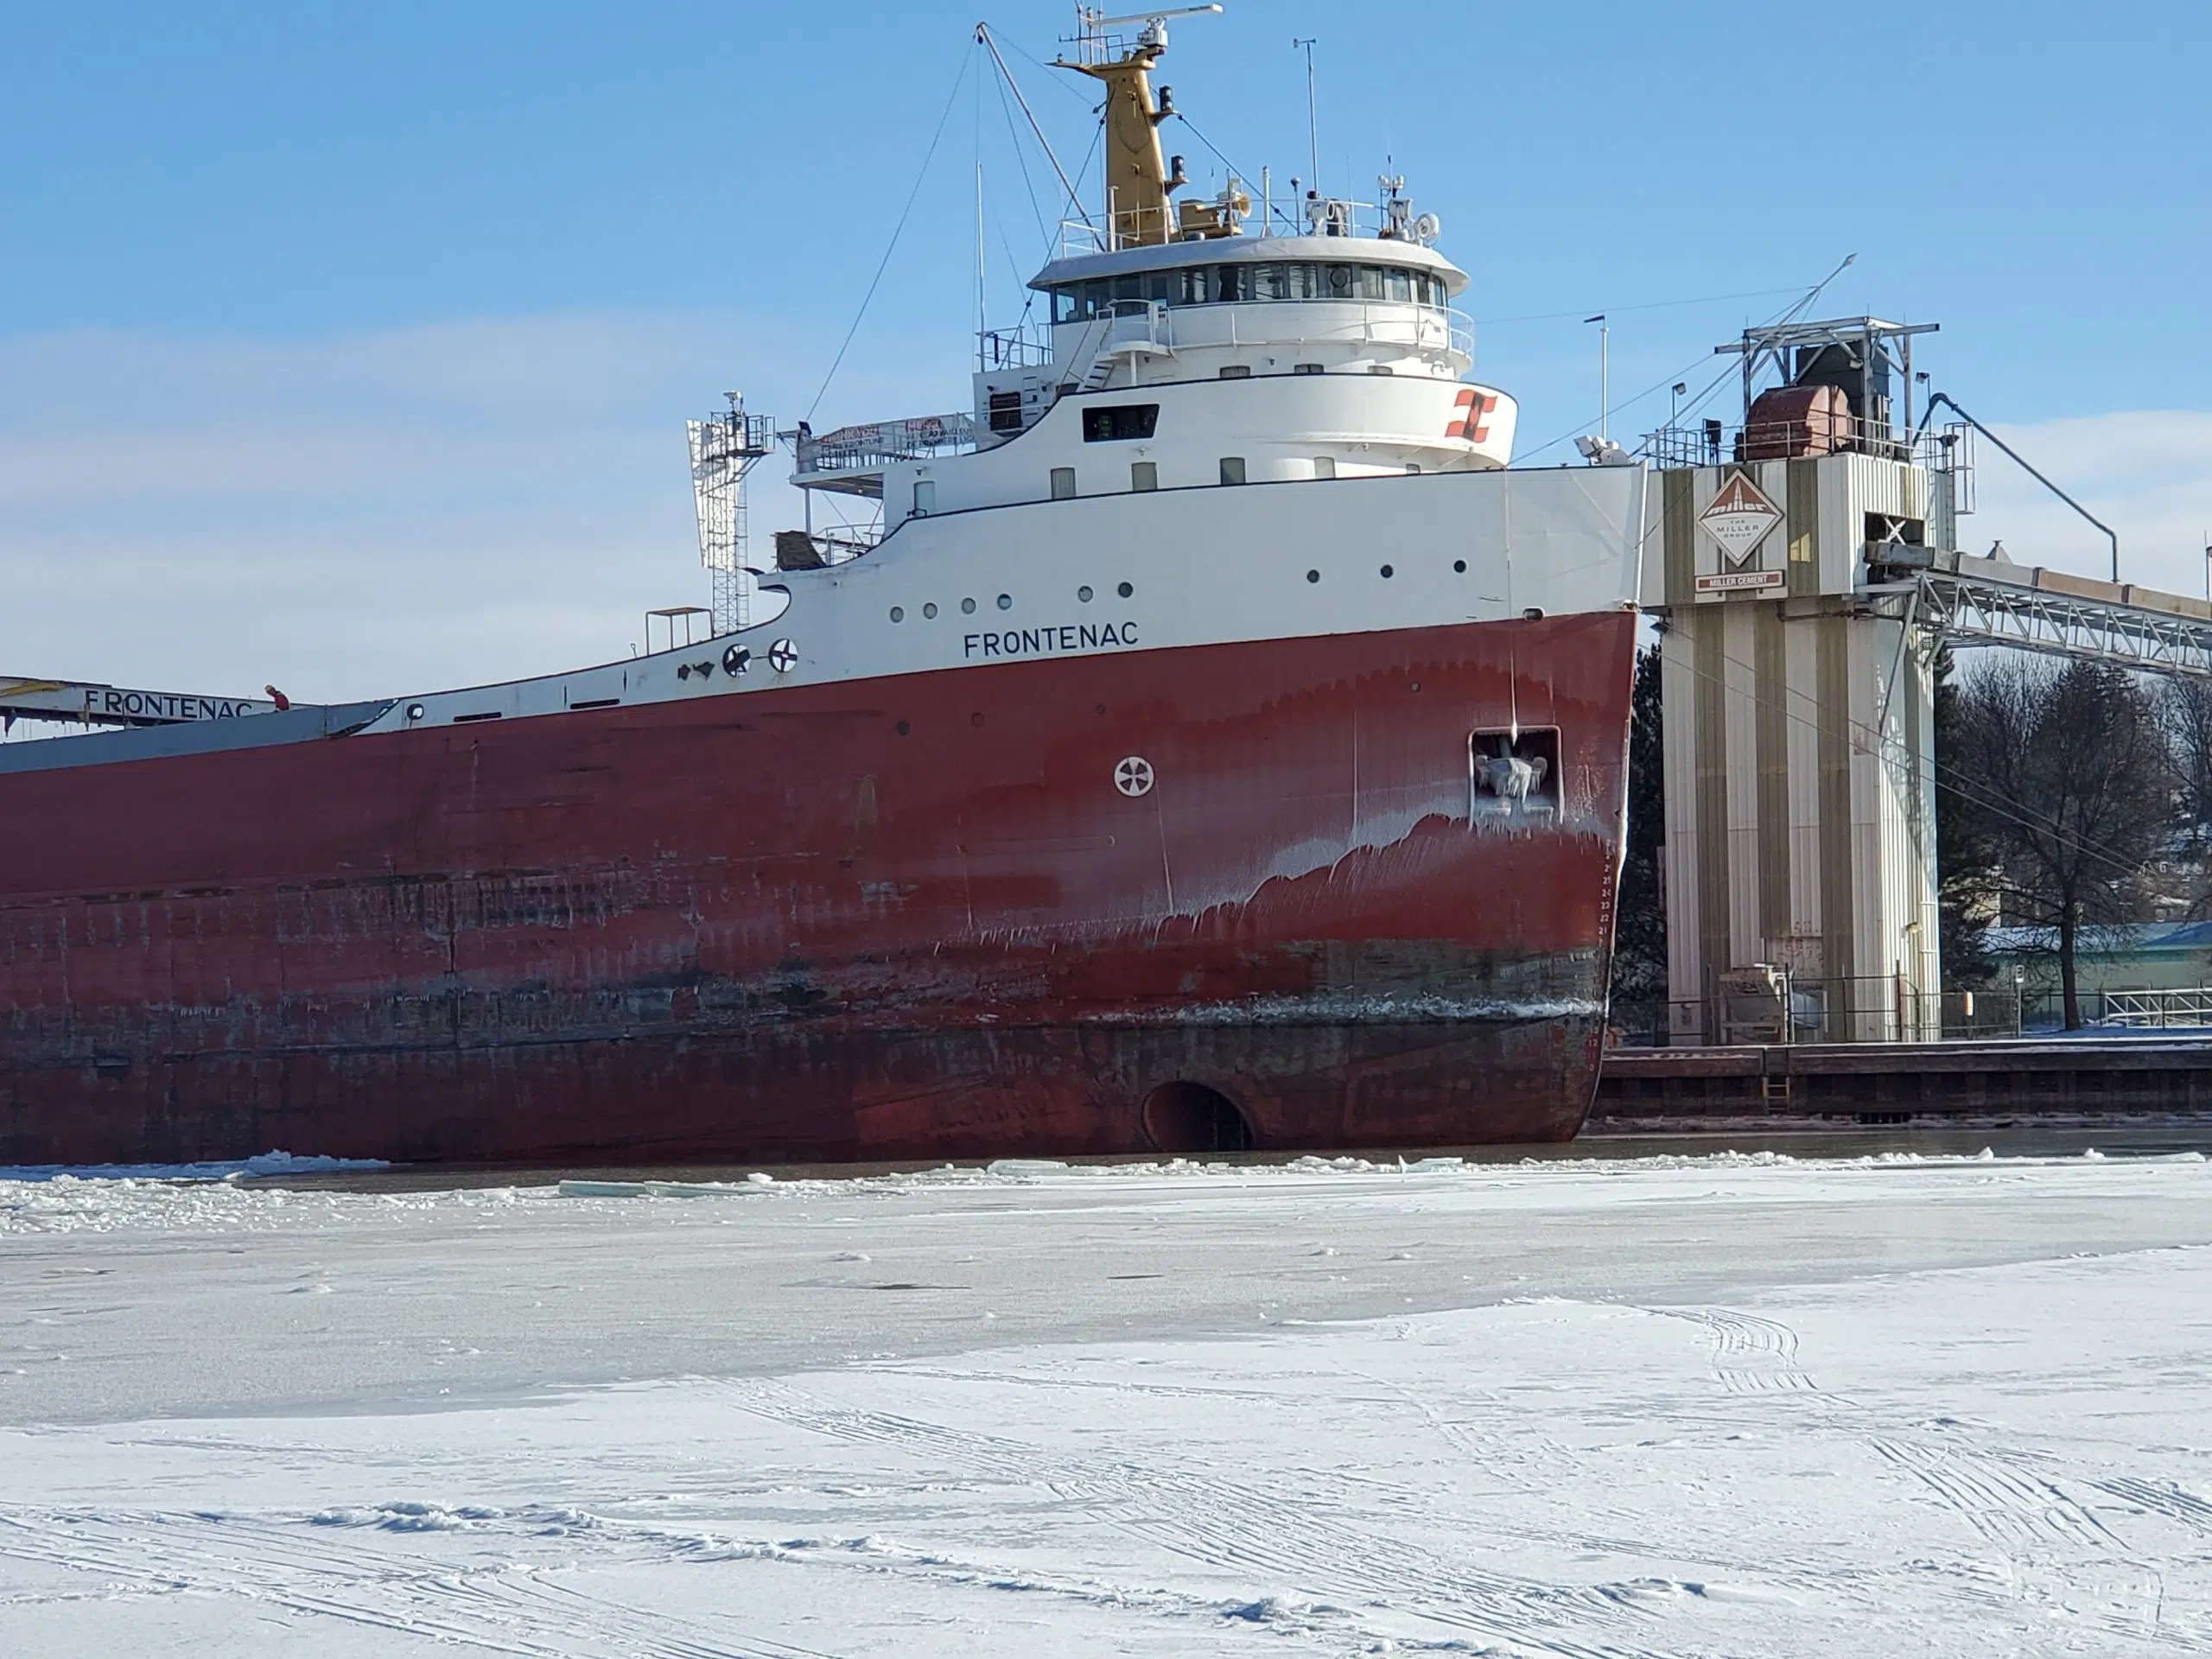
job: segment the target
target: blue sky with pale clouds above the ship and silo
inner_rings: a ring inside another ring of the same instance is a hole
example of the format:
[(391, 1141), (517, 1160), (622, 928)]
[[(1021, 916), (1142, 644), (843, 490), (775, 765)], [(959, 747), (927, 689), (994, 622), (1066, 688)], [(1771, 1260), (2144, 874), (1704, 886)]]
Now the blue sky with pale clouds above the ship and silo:
[[(947, 106), (816, 425), (964, 405), (978, 155), (995, 319), (1040, 252), (975, 15), (0, 11), (0, 670), (363, 690), (619, 653), (639, 602), (695, 597), (677, 422), (732, 385), (805, 411)], [(1035, 62), (1071, 9), (984, 15), (1073, 168), (1091, 100)], [(1595, 425), (1586, 312), (1617, 398), (1661, 387), (1635, 434), (1856, 252), (1823, 312), (1940, 319), (1936, 383), (2090, 495), (2106, 467), (2110, 511), (2161, 498), (2146, 542), (2212, 513), (2212, 9), (1232, 0), (1164, 73), (1201, 188), (1208, 139), (1307, 170), (1294, 35), (1325, 184), (1371, 195), (1391, 157), (1442, 215), (1524, 449)]]

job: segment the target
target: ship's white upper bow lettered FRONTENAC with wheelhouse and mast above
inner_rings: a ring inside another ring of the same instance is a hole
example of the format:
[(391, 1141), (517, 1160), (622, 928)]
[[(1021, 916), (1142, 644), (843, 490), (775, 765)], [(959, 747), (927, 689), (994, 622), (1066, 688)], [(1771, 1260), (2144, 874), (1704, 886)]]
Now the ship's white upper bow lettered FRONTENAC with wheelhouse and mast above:
[(1155, 20), (1068, 64), (1106, 84), (1108, 210), (1031, 279), (1048, 321), (982, 338), (973, 407), (787, 434), (792, 480), (876, 522), (779, 531), (745, 628), (376, 730), (1632, 604), (1641, 469), (1506, 471), (1515, 407), (1464, 378), (1436, 217), (1402, 179), (1170, 210), (1164, 49)]

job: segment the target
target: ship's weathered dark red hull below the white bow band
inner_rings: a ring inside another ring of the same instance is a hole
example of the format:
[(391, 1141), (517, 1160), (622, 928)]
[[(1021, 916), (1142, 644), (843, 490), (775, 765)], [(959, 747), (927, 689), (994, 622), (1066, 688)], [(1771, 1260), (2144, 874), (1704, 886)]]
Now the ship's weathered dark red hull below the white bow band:
[[(1462, 624), (0, 776), (0, 1164), (1564, 1139), (1632, 648)], [(1557, 728), (1548, 816), (1475, 810), (1509, 726)]]

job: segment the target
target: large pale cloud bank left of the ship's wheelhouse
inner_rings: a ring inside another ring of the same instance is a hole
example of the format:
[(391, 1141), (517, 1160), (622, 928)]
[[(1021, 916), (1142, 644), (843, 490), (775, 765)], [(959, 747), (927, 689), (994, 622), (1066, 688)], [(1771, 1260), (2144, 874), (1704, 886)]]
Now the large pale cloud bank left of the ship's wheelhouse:
[[(745, 385), (792, 420), (823, 361), (723, 314), (0, 341), (0, 675), (345, 699), (622, 657), (706, 599), (684, 418)], [(953, 378), (869, 369), (825, 418)], [(796, 522), (761, 484), (754, 529)]]

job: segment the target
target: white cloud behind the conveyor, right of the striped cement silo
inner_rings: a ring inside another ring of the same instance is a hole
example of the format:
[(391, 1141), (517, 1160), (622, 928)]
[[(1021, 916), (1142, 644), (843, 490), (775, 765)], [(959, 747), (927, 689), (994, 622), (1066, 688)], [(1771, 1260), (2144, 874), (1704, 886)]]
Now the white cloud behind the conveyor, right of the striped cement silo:
[[(2168, 593), (2205, 591), (2212, 531), (2212, 414), (2141, 409), (2077, 416), (1997, 434), (2119, 533), (2119, 573)], [(2110, 575), (2110, 544), (2004, 458), (1975, 445), (1975, 513), (1960, 542), (1986, 553), (2002, 540), (2022, 564)]]

